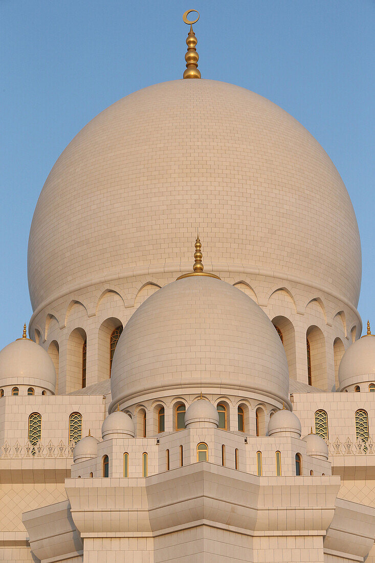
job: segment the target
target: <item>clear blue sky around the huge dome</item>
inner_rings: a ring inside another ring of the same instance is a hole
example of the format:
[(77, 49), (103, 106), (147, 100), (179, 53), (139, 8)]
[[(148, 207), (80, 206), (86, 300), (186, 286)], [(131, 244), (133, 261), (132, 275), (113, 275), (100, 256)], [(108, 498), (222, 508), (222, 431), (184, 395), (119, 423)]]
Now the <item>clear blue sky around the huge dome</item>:
[(193, 7), (202, 77), (280, 105), (340, 172), (362, 243), (359, 311), (375, 328), (374, 0), (1, 0), (0, 348), (32, 314), (29, 227), (53, 163), (116, 100), (181, 78)]

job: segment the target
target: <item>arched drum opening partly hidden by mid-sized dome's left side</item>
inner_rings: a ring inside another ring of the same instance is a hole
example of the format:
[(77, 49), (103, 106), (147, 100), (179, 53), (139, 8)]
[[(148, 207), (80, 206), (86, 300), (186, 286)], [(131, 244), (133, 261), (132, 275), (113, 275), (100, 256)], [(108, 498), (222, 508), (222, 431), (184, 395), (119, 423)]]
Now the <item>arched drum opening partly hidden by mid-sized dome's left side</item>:
[(123, 330), (122, 322), (111, 317), (101, 323), (97, 334), (97, 373), (99, 381), (111, 376), (114, 352)]

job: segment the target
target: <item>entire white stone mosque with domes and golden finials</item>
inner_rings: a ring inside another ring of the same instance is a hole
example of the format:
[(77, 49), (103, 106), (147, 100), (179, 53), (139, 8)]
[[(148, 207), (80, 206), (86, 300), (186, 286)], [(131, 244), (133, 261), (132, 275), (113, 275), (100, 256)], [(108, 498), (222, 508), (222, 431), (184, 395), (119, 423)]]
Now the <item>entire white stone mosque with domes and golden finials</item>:
[(39, 196), (33, 315), (0, 352), (0, 559), (375, 562), (349, 195), (186, 43), (184, 79), (97, 115)]

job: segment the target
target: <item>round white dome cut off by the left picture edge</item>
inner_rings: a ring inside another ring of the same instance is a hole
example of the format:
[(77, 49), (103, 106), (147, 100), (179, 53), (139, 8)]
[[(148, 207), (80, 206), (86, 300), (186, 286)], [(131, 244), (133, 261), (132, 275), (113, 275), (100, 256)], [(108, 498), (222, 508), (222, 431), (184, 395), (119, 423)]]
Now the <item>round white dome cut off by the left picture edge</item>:
[(48, 352), (29, 338), (19, 338), (0, 351), (0, 387), (21, 385), (55, 394), (55, 366)]

